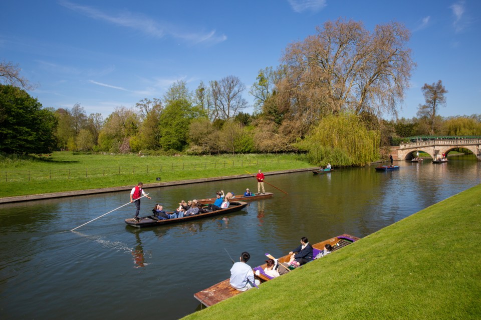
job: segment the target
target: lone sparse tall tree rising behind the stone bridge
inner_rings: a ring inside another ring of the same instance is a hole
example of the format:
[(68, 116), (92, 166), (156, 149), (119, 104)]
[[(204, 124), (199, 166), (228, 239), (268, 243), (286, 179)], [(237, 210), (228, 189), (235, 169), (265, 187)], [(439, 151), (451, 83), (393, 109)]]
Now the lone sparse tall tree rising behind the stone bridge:
[(446, 105), (446, 97), (444, 96), (444, 93), (447, 93), (448, 91), (442, 85), (441, 80), (432, 84), (424, 83), (421, 87), (421, 91), (424, 95), (425, 103), (419, 104), (417, 116), (426, 117), (430, 120), (431, 135), (433, 135), (437, 108)]

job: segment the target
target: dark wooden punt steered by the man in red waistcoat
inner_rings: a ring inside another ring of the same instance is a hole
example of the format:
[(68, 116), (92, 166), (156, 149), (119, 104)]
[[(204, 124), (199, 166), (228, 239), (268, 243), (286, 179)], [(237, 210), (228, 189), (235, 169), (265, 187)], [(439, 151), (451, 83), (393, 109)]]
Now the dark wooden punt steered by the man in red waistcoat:
[(195, 219), (201, 219), (201, 218), (213, 216), (213, 215), (227, 214), (227, 213), (242, 210), (243, 208), (246, 207), (247, 204), (248, 204), (247, 202), (235, 201), (235, 202), (230, 202), (229, 207), (226, 209), (220, 209), (216, 211), (199, 213), (195, 215), (184, 216), (181, 218), (166, 219), (166, 220), (159, 219), (155, 215), (148, 215), (148, 216), (141, 217), (140, 221), (135, 221), (134, 218), (127, 218), (125, 219), (125, 223), (138, 228), (146, 227), (146, 226), (159, 226), (159, 225), (164, 225), (169, 223), (178, 223), (178, 222), (190, 221)]

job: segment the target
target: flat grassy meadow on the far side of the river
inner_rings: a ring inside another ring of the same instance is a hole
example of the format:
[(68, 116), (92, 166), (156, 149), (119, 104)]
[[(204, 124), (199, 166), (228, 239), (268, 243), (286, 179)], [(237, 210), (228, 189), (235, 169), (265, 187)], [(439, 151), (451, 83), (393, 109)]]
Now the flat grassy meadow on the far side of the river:
[(0, 156), (0, 197), (307, 168), (299, 154)]

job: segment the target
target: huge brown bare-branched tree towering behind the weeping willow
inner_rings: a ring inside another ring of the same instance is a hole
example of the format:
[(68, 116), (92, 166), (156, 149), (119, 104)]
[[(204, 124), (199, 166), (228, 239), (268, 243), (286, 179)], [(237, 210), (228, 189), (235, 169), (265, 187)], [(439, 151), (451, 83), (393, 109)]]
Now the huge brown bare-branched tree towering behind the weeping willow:
[(282, 56), (289, 65), (278, 96), (293, 116), (309, 125), (319, 114), (343, 109), (395, 114), (409, 87), (415, 63), (406, 46), (410, 32), (401, 23), (376, 25), (327, 21), (317, 33), (290, 44)]

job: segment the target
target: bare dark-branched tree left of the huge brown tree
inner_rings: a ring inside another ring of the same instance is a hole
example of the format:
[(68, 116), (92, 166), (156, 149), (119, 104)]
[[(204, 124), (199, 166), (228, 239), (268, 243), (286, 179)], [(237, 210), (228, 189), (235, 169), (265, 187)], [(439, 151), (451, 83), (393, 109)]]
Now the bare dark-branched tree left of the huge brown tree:
[(247, 100), (242, 97), (246, 86), (238, 77), (228, 75), (220, 81), (210, 81), (209, 84), (214, 106), (214, 119), (228, 120), (247, 107)]

